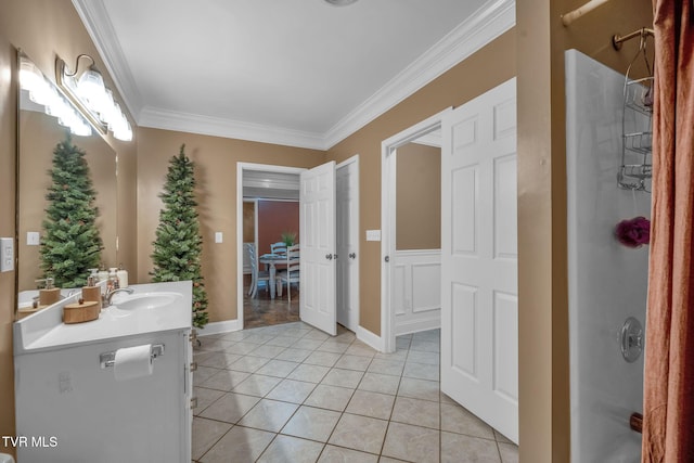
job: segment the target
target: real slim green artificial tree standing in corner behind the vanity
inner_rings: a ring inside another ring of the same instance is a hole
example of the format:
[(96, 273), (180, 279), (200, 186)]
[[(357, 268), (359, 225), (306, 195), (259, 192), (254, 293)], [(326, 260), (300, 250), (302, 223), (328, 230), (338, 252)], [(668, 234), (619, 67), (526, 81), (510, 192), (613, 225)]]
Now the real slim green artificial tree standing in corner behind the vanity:
[(169, 160), (164, 191), (159, 197), (164, 208), (159, 211), (159, 224), (154, 241), (154, 282), (193, 282), (193, 325), (207, 324), (207, 294), (201, 272), (203, 239), (195, 207), (194, 164), (181, 145), (178, 156)]

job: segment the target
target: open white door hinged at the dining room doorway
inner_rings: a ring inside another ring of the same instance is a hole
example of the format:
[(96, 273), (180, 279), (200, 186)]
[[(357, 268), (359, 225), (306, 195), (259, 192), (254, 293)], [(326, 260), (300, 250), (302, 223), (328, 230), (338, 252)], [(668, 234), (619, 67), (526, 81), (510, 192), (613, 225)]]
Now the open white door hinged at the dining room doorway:
[(335, 163), (301, 172), (299, 193), (301, 258), (299, 316), (336, 334), (335, 314)]

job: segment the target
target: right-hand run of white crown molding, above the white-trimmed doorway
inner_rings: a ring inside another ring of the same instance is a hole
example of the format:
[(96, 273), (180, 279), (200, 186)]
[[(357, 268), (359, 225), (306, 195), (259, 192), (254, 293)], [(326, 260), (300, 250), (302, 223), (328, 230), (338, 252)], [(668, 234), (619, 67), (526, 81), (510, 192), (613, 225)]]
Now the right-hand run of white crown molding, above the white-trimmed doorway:
[(515, 0), (490, 0), (404, 70), (333, 126), (326, 145), (334, 146), (381, 116), (516, 23)]

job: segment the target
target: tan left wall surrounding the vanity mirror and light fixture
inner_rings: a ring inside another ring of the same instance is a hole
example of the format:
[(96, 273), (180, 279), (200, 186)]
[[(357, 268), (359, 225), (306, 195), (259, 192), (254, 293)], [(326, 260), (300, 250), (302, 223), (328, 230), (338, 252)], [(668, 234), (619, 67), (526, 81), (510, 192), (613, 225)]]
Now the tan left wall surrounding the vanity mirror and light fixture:
[[(0, 234), (14, 235), (16, 88), (11, 80), (14, 48), (21, 48), (51, 80), (55, 75), (55, 55), (70, 62), (79, 53), (97, 60), (106, 85), (115, 86), (85, 29), (70, 0), (3, 0), (0, 2)], [(132, 119), (131, 119), (132, 120)], [(137, 140), (137, 133), (136, 133)], [(118, 153), (118, 261), (136, 267), (136, 143), (107, 138)], [(0, 273), (0, 435), (14, 434), (14, 377), (12, 326), (14, 319), (15, 272)], [(0, 451), (2, 448), (0, 441)], [(12, 450), (10, 450), (13, 452)]]

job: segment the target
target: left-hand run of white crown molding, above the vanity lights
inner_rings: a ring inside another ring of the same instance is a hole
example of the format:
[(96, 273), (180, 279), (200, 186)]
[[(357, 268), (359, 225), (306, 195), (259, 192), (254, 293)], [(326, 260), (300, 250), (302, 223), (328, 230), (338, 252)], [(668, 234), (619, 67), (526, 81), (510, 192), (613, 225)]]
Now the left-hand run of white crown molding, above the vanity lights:
[(116, 39), (116, 33), (103, 1), (73, 0), (73, 5), (106, 65), (106, 70), (120, 93), (123, 103), (138, 123), (138, 115), (142, 110), (142, 98), (120, 43)]

